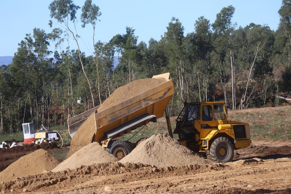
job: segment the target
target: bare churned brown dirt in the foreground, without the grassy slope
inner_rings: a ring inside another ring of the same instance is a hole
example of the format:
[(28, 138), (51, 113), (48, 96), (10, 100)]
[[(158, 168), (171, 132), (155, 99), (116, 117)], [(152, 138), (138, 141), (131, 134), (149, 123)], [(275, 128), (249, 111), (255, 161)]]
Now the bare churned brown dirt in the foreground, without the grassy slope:
[[(178, 160), (178, 158), (177, 158)], [(154, 168), (101, 163), (0, 182), (2, 193), (291, 193), (289, 140), (253, 142), (233, 162)], [(11, 189), (15, 191), (10, 192)]]

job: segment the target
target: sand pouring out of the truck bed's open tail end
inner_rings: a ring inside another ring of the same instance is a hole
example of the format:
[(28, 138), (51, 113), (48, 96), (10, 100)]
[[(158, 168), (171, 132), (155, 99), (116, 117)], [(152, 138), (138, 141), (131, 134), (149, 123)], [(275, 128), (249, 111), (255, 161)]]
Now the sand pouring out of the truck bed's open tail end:
[(92, 113), (87, 120), (80, 126), (77, 133), (74, 135), (70, 150), (68, 152), (67, 157), (72, 156), (75, 152), (79, 149), (88, 145), (89, 143), (93, 142), (93, 138), (95, 135), (95, 120), (94, 120), (94, 113)]

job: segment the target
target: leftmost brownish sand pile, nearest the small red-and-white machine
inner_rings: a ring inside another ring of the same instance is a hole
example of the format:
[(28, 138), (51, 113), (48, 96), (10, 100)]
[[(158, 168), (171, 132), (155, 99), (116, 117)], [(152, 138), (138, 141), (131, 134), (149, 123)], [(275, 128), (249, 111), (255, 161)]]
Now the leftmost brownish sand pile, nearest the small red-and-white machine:
[(38, 149), (22, 156), (0, 172), (0, 181), (12, 181), (17, 177), (36, 175), (44, 170), (52, 170), (58, 161), (44, 149)]

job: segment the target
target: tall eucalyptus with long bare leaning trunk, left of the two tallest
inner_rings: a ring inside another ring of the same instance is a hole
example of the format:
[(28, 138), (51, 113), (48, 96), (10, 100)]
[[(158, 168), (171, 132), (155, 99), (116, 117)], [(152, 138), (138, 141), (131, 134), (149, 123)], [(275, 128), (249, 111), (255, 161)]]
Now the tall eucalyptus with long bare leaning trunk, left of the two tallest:
[[(77, 10), (80, 7), (75, 5), (72, 0), (54, 0), (52, 3), (49, 4), (49, 10), (50, 10), (50, 17), (54, 18), (59, 22), (60, 24), (64, 24), (70, 35), (74, 38), (77, 48), (78, 48), (78, 54), (79, 54), (79, 60), (82, 66), (83, 73), (86, 77), (86, 80), (89, 85), (90, 93), (91, 93), (91, 99), (93, 103), (93, 107), (95, 107), (94, 103), (94, 96), (93, 96), (93, 91), (91, 87), (91, 82), (84, 70), (84, 65), (81, 59), (81, 51), (78, 43), (78, 38), (80, 37), (77, 33), (75, 34), (72, 29), (70, 28), (69, 21), (73, 22), (74, 24), (74, 29), (76, 30), (76, 25), (77, 25), (77, 17), (76, 13)], [(52, 20), (49, 21), (49, 25), (52, 27)]]

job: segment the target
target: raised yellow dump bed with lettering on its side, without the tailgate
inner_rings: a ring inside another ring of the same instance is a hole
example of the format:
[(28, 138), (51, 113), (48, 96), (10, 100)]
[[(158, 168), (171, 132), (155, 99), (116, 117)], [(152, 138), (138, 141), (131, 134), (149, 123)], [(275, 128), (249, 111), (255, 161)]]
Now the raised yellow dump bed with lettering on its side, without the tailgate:
[(174, 94), (174, 85), (170, 73), (152, 78), (160, 77), (165, 78), (166, 82), (100, 113), (95, 109), (94, 141), (100, 142), (107, 138), (122, 136), (137, 127), (148, 124), (149, 121), (156, 122), (162, 117)]

